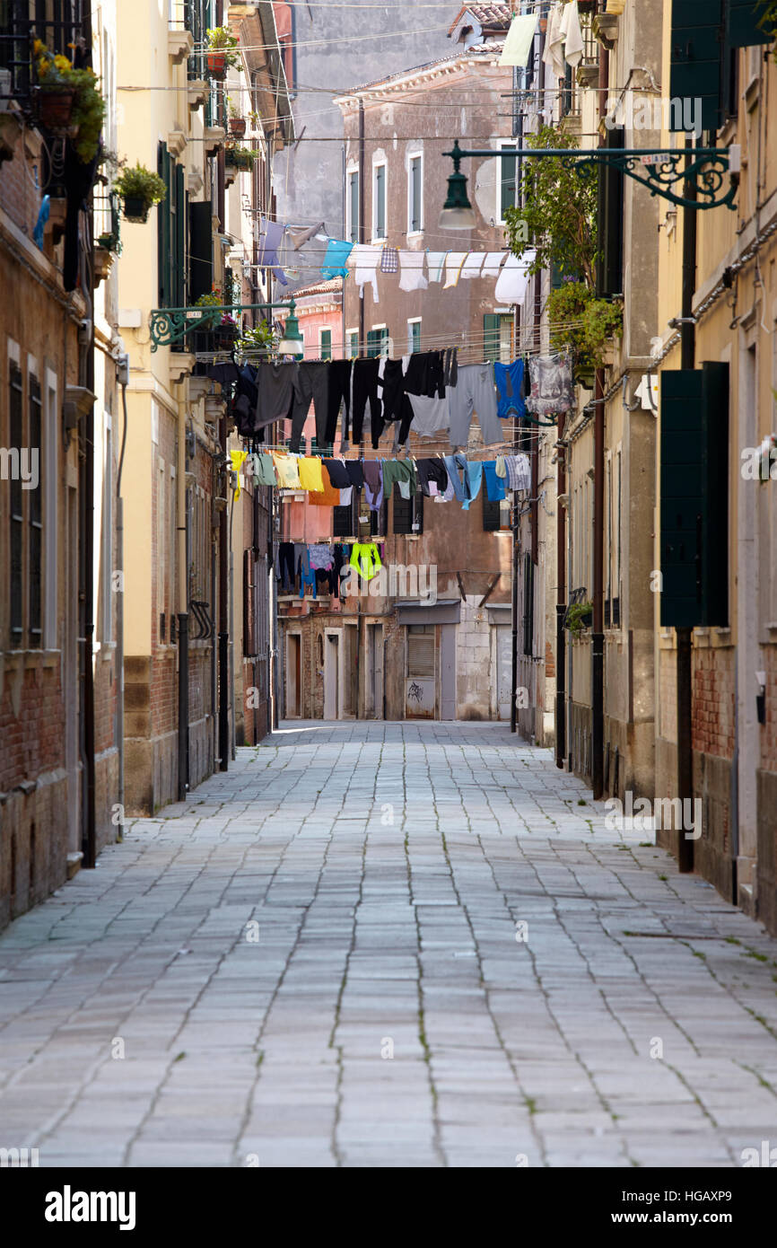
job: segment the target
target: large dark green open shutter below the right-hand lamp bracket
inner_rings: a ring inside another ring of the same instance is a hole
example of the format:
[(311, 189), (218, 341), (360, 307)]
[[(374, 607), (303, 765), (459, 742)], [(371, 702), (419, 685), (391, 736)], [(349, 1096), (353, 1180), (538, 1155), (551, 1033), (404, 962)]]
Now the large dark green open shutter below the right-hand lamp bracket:
[(661, 373), (661, 624), (728, 623), (728, 366)]

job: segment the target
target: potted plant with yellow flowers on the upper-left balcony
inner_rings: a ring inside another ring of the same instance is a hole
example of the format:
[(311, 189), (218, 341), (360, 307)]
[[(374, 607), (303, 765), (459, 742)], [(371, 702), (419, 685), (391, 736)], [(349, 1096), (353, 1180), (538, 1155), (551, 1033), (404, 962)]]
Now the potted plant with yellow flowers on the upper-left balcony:
[(105, 100), (97, 90), (94, 70), (72, 67), (61, 54), (54, 55), (40, 39), (32, 44), (37, 77), (37, 117), (46, 130), (74, 130), (74, 147), (84, 163), (97, 155), (105, 117)]

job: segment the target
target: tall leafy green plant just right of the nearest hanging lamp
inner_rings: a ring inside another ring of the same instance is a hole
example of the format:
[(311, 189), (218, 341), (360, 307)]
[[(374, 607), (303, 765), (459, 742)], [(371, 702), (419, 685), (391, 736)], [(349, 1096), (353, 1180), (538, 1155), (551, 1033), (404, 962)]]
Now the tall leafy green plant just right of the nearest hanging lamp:
[[(577, 140), (554, 126), (526, 136), (530, 147), (577, 147)], [(591, 166), (564, 157), (524, 160), (521, 207), (505, 213), (510, 250), (520, 256), (526, 250), (521, 240), (521, 220), (526, 222), (536, 257), (529, 273), (555, 265), (561, 273), (582, 275), (594, 288), (596, 266), (597, 176)]]

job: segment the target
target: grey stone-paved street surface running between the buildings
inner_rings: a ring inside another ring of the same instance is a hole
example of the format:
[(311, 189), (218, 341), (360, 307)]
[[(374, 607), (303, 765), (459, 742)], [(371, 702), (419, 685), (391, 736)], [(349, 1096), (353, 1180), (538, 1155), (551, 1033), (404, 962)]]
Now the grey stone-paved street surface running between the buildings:
[(0, 936), (0, 1146), (738, 1166), (777, 941), (645, 840), (503, 725), (284, 724)]

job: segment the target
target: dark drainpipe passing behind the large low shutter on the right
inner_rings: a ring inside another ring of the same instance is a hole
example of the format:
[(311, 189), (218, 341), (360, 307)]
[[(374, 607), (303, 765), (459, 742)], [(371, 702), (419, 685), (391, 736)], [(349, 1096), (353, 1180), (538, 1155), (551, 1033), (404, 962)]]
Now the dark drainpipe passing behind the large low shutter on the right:
[[(686, 149), (691, 140), (686, 139)], [(690, 161), (691, 154), (687, 156)], [(696, 197), (691, 181), (683, 183), (683, 196)], [(696, 364), (696, 326), (693, 324), (693, 291), (696, 288), (696, 208), (682, 210), (682, 317), (680, 324), (680, 367)], [(693, 796), (693, 686), (692, 629), (678, 628), (677, 634), (677, 796), (681, 802)], [(685, 810), (685, 805), (681, 806)], [(682, 822), (682, 821), (681, 821)], [(686, 840), (681, 826), (677, 836), (677, 869), (693, 870), (693, 841)]]

